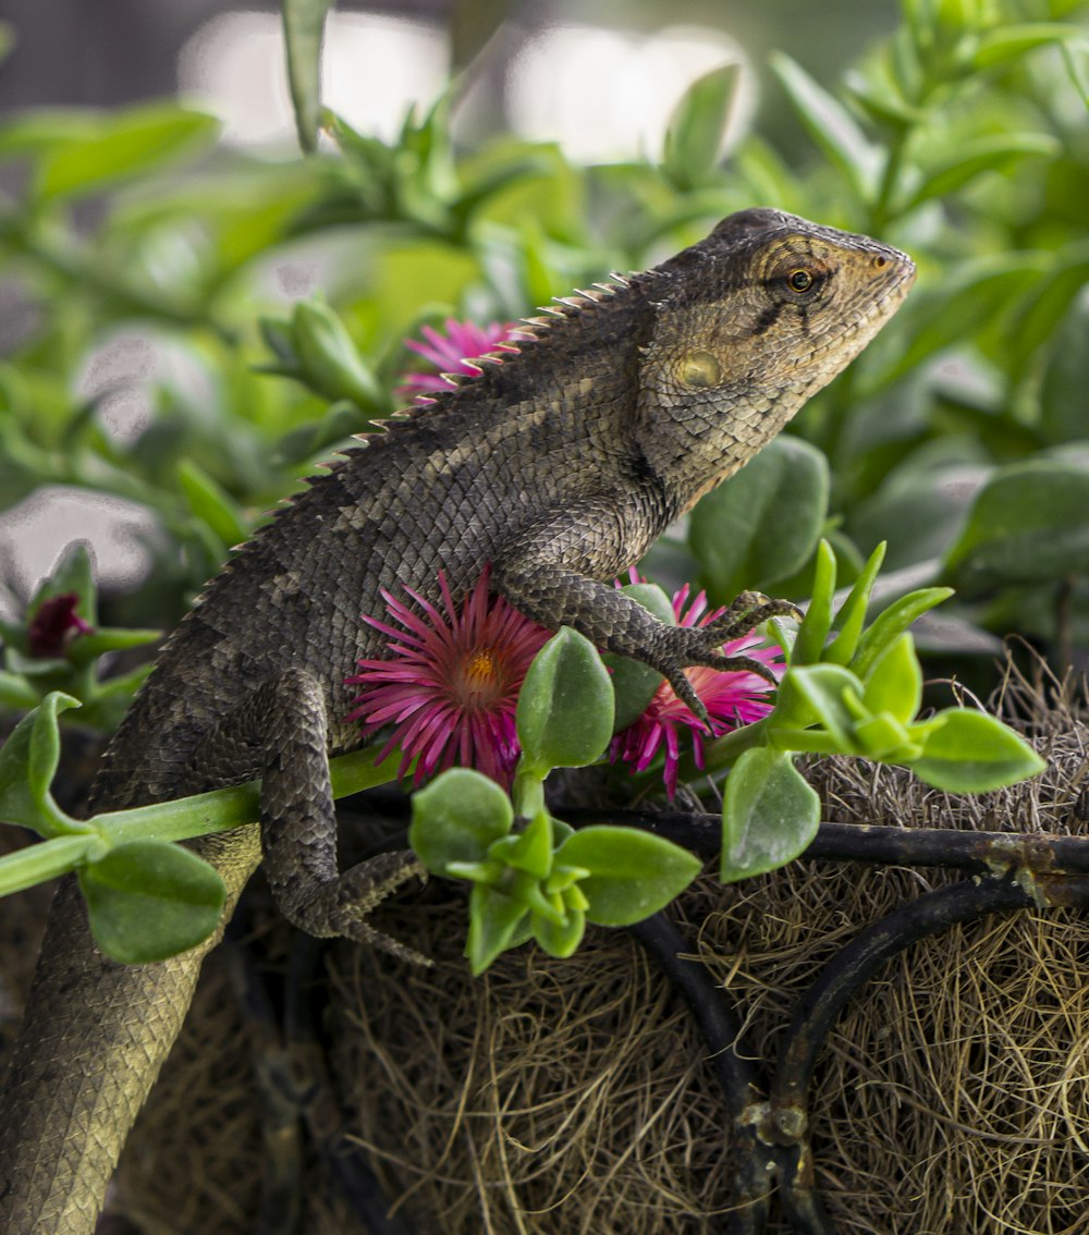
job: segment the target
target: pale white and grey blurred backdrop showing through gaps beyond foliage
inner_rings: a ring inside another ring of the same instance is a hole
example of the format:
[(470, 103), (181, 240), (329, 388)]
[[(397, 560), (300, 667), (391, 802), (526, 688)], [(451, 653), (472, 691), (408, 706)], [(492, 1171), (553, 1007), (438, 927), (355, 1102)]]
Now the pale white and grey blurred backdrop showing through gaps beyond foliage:
[[(451, 73), (469, 65), (454, 116), (461, 141), (514, 132), (557, 142), (572, 159), (620, 161), (659, 149), (685, 89), (726, 61), (743, 67), (727, 141), (758, 121), (800, 151), (804, 138), (763, 68), (767, 53), (804, 56), (831, 82), (859, 47), (889, 33), (896, 4), (831, 0), (815, 16), (811, 0), (346, 2), (328, 19), (323, 101), (361, 132), (390, 141), (407, 107), (437, 96)], [(0, 112), (120, 107), (173, 94), (221, 121), (225, 152), (298, 154), (278, 4), (6, 0), (2, 20), (10, 51), (0, 65)], [(16, 188), (21, 174), (0, 167), (0, 186)], [(314, 278), (312, 268), (285, 268), (285, 287), (273, 294), (291, 300), (312, 290)], [(0, 274), (0, 348), (10, 352), (23, 337), (27, 314), (17, 285)], [(106, 414), (115, 424), (138, 422), (148, 379), (163, 363), (128, 336), (88, 359), (81, 389), (111, 388)], [(4, 573), (25, 593), (75, 531), (95, 543), (106, 579), (130, 583), (144, 568), (133, 541), (148, 531), (140, 513), (102, 495), (54, 490), (0, 514)], [(2, 594), (0, 606), (10, 611)]]

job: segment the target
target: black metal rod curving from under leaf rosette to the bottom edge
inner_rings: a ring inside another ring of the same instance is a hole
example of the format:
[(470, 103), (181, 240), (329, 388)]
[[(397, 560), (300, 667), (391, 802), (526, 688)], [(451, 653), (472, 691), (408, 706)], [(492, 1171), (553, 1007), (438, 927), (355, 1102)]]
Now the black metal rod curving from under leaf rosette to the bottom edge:
[(628, 931), (664, 971), (699, 1024), (711, 1052), (711, 1065), (726, 1095), (737, 1155), (733, 1171), (737, 1208), (726, 1218), (726, 1235), (761, 1235), (768, 1221), (768, 1204), (778, 1150), (761, 1140), (766, 1104), (757, 1070), (736, 1051), (741, 1020), (726, 992), (715, 984), (705, 965), (684, 956), (691, 945), (664, 914), (654, 914)]

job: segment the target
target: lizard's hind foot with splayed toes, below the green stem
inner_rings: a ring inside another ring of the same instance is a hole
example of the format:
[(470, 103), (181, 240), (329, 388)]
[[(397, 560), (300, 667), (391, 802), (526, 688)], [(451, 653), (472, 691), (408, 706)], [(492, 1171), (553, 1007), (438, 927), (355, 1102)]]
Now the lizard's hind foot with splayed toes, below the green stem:
[(336, 879), (320, 883), (315, 894), (295, 906), (289, 916), (311, 935), (343, 935), (361, 944), (370, 944), (403, 961), (432, 966), (435, 962), (430, 957), (383, 935), (365, 921), (375, 905), (414, 877), (427, 879), (427, 872), (415, 853), (378, 853), (344, 871)]

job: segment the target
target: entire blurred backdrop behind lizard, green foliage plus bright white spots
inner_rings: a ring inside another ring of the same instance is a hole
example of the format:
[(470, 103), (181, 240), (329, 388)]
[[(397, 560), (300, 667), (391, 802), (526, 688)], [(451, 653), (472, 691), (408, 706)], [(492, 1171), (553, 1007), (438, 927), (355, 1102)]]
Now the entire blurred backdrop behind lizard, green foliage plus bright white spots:
[(403, 403), (424, 326), (517, 321), (766, 204), (898, 245), (919, 280), (647, 568), (716, 603), (804, 598), (819, 536), (843, 583), (887, 540), (900, 590), (958, 589), (921, 636), (936, 667), (974, 673), (1011, 632), (1079, 663), (1085, 16), (344, 2), (304, 154), (277, 5), (7, 0), (0, 618), (83, 538), (111, 619), (169, 627), (300, 477)]

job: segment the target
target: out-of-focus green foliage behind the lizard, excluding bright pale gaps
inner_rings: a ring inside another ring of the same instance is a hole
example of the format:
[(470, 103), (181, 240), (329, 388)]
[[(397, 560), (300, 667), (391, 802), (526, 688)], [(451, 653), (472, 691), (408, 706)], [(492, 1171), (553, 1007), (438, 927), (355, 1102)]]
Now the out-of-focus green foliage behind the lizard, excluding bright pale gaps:
[[(657, 162), (599, 167), (512, 136), (459, 148), (454, 93), (395, 142), (354, 132), (317, 107), (326, 5), (295, 7), (293, 88), (302, 131), (317, 117), (326, 135), (316, 153), (220, 149), (215, 122), (174, 103), (0, 127), (0, 159), (23, 169), (0, 203), (0, 258), (35, 309), (0, 362), (0, 508), (64, 484), (149, 510), (154, 566), (115, 620), (175, 621), (299, 477), (395, 409), (404, 338), (425, 321), (521, 317), (768, 204), (908, 249), (919, 285), (793, 426), (805, 441), (705, 499), (649, 569), (699, 578), (716, 603), (742, 584), (800, 598), (820, 535), (847, 582), (888, 540), (911, 587), (958, 588), (964, 621), (1084, 646), (1084, 6), (903, 0), (893, 37), (859, 48), (833, 93), (772, 58), (807, 159), (758, 128), (720, 158), (737, 79), (724, 65), (682, 101)], [(298, 268), (322, 296), (286, 312), (273, 289)], [(80, 377), (130, 330), (172, 363), (147, 422), (119, 432)]]

